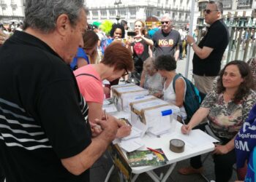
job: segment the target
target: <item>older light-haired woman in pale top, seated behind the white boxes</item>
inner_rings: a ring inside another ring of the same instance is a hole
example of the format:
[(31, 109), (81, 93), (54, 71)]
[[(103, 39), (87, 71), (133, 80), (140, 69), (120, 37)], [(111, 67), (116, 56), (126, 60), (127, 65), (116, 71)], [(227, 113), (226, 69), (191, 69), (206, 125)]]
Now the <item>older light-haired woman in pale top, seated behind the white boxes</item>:
[(146, 73), (143, 88), (149, 90), (150, 95), (157, 98), (162, 97), (163, 78), (154, 68), (154, 58), (147, 58), (143, 63), (143, 71)]

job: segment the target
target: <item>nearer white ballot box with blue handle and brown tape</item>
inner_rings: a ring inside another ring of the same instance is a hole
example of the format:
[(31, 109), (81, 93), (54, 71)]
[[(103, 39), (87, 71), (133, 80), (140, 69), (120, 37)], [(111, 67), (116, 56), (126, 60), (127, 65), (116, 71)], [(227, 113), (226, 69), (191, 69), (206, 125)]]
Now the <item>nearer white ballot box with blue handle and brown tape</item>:
[(161, 135), (169, 130), (175, 130), (176, 119), (173, 114), (180, 112), (177, 106), (167, 103), (159, 98), (149, 98), (130, 103), (131, 122), (142, 122), (146, 125), (147, 132)]

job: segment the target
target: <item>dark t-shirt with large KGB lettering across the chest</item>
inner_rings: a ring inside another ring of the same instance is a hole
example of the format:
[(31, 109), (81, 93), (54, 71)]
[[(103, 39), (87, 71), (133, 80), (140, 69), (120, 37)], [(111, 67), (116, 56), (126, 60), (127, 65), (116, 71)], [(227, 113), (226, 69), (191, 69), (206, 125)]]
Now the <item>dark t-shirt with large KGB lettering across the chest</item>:
[(155, 57), (159, 55), (173, 55), (175, 54), (176, 47), (181, 44), (181, 35), (176, 30), (171, 30), (165, 33), (162, 30), (154, 33), (153, 36)]

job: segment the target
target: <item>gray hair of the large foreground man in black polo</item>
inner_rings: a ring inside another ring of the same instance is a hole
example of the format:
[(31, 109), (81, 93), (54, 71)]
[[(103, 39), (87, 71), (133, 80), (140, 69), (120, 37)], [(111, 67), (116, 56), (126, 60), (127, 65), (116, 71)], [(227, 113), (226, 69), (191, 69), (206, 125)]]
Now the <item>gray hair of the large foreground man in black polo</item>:
[(76, 25), (83, 3), (84, 0), (26, 0), (24, 30), (31, 27), (43, 33), (53, 31), (61, 14), (66, 14), (71, 25)]

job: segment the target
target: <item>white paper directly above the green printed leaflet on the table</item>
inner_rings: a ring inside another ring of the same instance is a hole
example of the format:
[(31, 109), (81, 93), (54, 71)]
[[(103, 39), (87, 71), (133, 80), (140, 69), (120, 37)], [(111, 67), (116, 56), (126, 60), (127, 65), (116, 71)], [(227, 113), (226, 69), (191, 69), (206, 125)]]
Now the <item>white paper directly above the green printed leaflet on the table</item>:
[(141, 138), (132, 138), (126, 141), (121, 141), (119, 146), (125, 151), (135, 151), (142, 146), (145, 146)]

